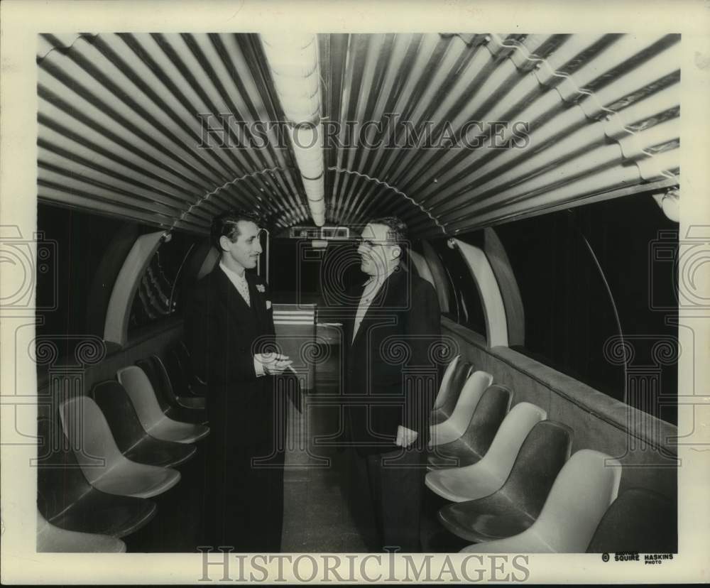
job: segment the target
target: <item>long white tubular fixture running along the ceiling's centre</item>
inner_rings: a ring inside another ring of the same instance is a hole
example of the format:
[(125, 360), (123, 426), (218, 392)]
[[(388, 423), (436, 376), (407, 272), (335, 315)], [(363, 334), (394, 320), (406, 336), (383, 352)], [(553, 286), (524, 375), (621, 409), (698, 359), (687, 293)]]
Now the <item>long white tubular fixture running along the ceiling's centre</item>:
[(325, 187), (320, 124), (320, 75), (315, 35), (261, 35), (271, 77), (288, 127), (308, 207), (317, 227), (325, 224)]

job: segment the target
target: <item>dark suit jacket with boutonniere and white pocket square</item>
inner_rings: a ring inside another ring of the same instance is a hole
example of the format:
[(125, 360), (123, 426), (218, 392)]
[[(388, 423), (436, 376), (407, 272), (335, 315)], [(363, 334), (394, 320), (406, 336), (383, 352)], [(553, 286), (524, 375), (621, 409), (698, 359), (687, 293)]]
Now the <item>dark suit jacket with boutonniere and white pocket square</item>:
[(217, 265), (195, 286), (185, 317), (193, 366), (207, 381), (210, 436), (220, 451), (273, 438), (275, 420), (283, 420), (274, 412), (273, 378), (257, 378), (253, 365), (254, 354), (274, 341), (268, 290), (249, 272), (246, 281), (251, 307)]

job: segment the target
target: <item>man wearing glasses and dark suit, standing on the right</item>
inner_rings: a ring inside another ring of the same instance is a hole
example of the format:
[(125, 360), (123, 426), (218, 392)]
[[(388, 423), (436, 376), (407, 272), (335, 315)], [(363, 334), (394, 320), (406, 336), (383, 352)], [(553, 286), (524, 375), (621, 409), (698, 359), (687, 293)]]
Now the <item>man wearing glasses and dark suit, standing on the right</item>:
[(351, 508), (368, 547), (421, 550), (429, 413), (438, 386), (440, 312), (430, 283), (408, 269), (406, 225), (375, 219), (358, 247), (366, 283), (349, 291), (344, 402)]

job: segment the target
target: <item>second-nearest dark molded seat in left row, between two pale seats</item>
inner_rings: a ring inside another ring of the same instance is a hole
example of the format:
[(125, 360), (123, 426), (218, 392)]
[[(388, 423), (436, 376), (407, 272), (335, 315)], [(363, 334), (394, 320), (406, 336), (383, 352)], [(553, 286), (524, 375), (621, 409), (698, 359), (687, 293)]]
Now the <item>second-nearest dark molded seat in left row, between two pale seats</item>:
[(109, 423), (116, 445), (132, 462), (173, 467), (195, 455), (197, 447), (151, 437), (141, 427), (131, 398), (118, 382), (97, 383), (91, 393)]

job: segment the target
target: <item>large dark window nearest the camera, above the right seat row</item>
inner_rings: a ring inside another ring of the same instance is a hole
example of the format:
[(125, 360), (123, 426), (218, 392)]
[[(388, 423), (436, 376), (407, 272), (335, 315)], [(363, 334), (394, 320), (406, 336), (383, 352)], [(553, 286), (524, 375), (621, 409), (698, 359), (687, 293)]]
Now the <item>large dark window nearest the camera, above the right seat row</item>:
[[(677, 306), (652, 304), (677, 300), (673, 263), (653, 261), (659, 237), (674, 230), (663, 241), (671, 258), (677, 225), (644, 194), (496, 227), (525, 308), (525, 344), (515, 349), (675, 423)], [(657, 361), (657, 344), (670, 362)], [(641, 372), (650, 379), (643, 397)]]

